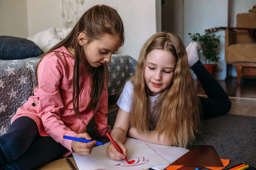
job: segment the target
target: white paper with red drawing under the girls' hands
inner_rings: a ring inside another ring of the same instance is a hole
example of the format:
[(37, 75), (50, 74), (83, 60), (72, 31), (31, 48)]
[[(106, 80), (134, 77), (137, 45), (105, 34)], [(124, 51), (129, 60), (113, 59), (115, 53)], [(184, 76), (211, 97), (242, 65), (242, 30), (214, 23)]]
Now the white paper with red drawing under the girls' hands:
[[(106, 153), (109, 143), (93, 148), (92, 153), (86, 156), (79, 156), (73, 153), (77, 167), (86, 169), (147, 169), (154, 167), (166, 167), (174, 162), (188, 150), (185, 148), (154, 145), (137, 139), (127, 138), (127, 159), (135, 160), (133, 164), (127, 164), (125, 160), (112, 160)], [(156, 167), (156, 168), (155, 168)], [(160, 168), (161, 169), (161, 168)]]

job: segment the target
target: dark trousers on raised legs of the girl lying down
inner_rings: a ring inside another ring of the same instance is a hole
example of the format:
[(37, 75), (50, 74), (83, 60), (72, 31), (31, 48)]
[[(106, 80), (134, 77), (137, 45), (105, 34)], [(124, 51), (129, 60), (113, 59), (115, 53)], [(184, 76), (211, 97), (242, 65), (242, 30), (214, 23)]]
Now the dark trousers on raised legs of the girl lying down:
[(204, 65), (198, 60), (191, 69), (196, 74), (198, 80), (204, 89), (205, 94), (209, 97), (200, 97), (202, 106), (202, 118), (211, 118), (228, 113), (231, 108), (231, 102), (226, 92), (220, 84), (205, 69)]

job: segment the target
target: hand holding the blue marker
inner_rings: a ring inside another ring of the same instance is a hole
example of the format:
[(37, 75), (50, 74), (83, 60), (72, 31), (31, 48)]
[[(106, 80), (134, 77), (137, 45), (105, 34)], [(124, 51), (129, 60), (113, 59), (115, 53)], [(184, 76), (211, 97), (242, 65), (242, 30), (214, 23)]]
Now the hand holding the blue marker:
[[(88, 140), (92, 140), (88, 133), (81, 133), (75, 136), (76, 138), (84, 138)], [(77, 155), (90, 155), (92, 149), (97, 141), (92, 141), (89, 143), (79, 142), (79, 141), (72, 141), (72, 150), (77, 153)]]

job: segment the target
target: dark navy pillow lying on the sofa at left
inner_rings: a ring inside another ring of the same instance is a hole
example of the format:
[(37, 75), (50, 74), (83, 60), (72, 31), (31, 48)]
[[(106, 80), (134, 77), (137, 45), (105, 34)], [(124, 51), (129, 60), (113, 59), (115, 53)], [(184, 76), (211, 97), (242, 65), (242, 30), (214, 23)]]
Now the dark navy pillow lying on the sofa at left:
[(36, 57), (43, 51), (29, 39), (0, 36), (0, 59), (15, 60)]

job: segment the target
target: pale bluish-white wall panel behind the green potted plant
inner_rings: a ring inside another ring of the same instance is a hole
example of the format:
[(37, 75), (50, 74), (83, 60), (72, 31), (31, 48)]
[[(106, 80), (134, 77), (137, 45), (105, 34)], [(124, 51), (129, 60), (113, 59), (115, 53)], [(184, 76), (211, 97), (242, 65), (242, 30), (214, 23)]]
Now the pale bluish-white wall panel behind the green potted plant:
[[(184, 44), (191, 42), (188, 33), (199, 32), (204, 34), (205, 29), (212, 27), (227, 27), (228, 25), (228, 0), (184, 0)], [(216, 34), (223, 36), (220, 44), (220, 62), (215, 73), (217, 80), (226, 78), (225, 62), (225, 31)]]

